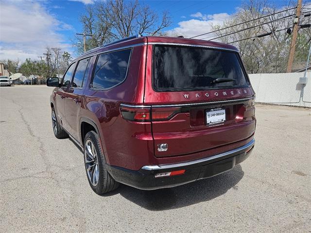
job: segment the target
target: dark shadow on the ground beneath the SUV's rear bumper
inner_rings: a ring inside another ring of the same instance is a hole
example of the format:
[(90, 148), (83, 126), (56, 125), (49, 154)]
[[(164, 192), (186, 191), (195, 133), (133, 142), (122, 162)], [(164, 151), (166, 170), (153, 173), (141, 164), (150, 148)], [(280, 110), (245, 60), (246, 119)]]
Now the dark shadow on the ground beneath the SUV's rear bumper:
[(240, 165), (221, 175), (188, 183), (174, 188), (158, 190), (139, 190), (121, 184), (120, 187), (105, 196), (120, 193), (122, 197), (151, 211), (178, 209), (203, 201), (209, 201), (225, 194), (229, 189), (238, 189), (244, 172)]

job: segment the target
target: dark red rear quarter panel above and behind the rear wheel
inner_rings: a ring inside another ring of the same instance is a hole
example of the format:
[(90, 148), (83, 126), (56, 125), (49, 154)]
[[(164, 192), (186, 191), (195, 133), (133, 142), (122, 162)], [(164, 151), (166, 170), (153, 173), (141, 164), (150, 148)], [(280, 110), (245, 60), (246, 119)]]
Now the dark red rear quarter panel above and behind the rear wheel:
[(126, 80), (120, 85), (92, 90), (91, 76), (86, 83), (81, 116), (96, 123), (110, 165), (136, 169), (138, 160), (148, 160), (154, 152), (151, 124), (127, 122), (120, 115), (121, 102), (143, 104), (146, 49), (145, 45), (133, 48)]

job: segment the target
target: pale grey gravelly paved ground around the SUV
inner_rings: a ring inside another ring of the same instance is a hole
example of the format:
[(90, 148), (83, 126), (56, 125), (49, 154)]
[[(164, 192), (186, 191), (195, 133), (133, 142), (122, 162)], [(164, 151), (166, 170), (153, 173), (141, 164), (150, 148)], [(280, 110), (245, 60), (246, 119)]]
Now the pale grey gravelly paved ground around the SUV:
[(96, 195), (52, 132), (51, 87), (0, 87), (0, 232), (311, 232), (311, 110), (257, 104), (250, 158), (219, 176)]

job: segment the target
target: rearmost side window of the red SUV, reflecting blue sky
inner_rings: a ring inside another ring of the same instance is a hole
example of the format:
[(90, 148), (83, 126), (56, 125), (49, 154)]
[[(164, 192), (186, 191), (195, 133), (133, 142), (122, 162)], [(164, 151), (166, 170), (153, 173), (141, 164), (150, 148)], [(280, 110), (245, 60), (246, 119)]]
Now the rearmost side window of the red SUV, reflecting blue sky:
[(122, 83), (126, 76), (131, 49), (100, 54), (91, 83), (95, 89), (108, 89)]

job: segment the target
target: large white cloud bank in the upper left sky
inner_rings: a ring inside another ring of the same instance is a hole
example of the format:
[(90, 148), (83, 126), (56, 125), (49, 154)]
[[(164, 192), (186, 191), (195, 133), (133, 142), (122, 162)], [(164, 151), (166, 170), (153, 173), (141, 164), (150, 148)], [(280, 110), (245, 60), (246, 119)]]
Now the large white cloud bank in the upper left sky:
[[(18, 4), (17, 4), (18, 3)], [(0, 59), (38, 59), (46, 46), (69, 49), (58, 31), (73, 30), (39, 1), (6, 1), (0, 8)]]

